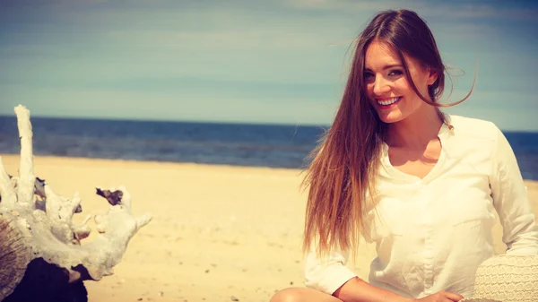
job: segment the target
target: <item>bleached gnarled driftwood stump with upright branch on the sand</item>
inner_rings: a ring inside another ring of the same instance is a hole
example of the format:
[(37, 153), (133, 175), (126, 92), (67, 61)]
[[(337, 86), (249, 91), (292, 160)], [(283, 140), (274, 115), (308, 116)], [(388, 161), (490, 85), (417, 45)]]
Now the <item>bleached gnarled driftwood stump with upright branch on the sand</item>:
[(134, 218), (125, 187), (97, 189), (111, 204), (95, 216), (99, 237), (81, 245), (91, 229), (72, 221), (81, 198), (56, 195), (33, 174), (30, 112), (15, 108), (21, 138), (19, 177), (10, 177), (0, 158), (0, 301), (87, 301), (82, 280), (113, 273), (127, 244), (151, 215)]

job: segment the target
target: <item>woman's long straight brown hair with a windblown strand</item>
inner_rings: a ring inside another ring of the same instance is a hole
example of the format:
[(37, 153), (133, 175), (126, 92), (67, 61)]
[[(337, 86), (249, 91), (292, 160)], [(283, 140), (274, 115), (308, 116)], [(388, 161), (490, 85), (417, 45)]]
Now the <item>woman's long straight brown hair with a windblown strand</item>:
[[(431, 106), (449, 107), (463, 102), (472, 90), (452, 104), (440, 104), (446, 67), (426, 22), (409, 10), (384, 11), (360, 33), (351, 71), (334, 123), (311, 152), (312, 162), (303, 186), (308, 186), (303, 250), (317, 246), (317, 254), (334, 248), (355, 250), (360, 235), (369, 235), (363, 217), (374, 205), (375, 178), (380, 163), (386, 124), (370, 105), (364, 81), (364, 57), (373, 40), (383, 41), (399, 56), (412, 90)], [(404, 54), (438, 74), (425, 97), (412, 82)], [(474, 87), (474, 84), (473, 84)], [(438, 116), (445, 117), (438, 109)], [(370, 192), (371, 194), (367, 194)]]

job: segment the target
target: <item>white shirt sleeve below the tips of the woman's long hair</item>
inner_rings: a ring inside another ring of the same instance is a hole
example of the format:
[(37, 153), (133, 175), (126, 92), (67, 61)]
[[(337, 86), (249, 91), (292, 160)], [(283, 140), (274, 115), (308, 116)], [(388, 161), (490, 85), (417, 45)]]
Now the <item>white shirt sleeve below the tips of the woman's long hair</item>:
[(345, 266), (348, 254), (332, 251), (329, 255), (319, 257), (310, 251), (305, 259), (305, 285), (332, 295), (345, 282), (357, 274)]

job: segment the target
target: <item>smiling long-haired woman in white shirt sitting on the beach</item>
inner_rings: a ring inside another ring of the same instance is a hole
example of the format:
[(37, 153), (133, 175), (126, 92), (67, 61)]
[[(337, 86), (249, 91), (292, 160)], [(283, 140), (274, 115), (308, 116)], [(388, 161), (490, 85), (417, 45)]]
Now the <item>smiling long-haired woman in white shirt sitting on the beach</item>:
[[(538, 254), (513, 151), (492, 123), (441, 113), (444, 74), (414, 12), (378, 13), (360, 34), (342, 104), (305, 179), (309, 289), (284, 289), (272, 302), (470, 297), (478, 265), (493, 255), (494, 211), (507, 253)], [(360, 236), (377, 245), (369, 282), (345, 267)]]

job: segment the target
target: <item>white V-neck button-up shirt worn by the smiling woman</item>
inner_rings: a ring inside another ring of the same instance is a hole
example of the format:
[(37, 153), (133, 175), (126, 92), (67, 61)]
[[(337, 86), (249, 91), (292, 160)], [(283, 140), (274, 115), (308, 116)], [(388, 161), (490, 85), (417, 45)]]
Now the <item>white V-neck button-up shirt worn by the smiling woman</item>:
[[(447, 116), (439, 130), (442, 150), (423, 179), (394, 168), (385, 145), (371, 226), (377, 258), (369, 282), (409, 298), (439, 290), (473, 295), (478, 265), (493, 255), (497, 211), (507, 253), (538, 254), (538, 226), (516, 157), (497, 126)], [(306, 285), (332, 294), (356, 274), (347, 252), (320, 259), (309, 253)]]

